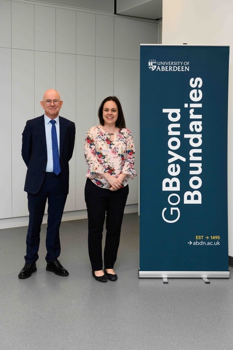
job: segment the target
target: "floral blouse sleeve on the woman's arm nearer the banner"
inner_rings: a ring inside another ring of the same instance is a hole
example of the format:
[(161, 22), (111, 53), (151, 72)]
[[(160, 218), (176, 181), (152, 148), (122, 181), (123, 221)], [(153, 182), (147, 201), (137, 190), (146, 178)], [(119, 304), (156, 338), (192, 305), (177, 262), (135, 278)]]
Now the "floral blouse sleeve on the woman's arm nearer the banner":
[(122, 168), (122, 173), (127, 174), (131, 179), (135, 178), (136, 171), (134, 168), (134, 160), (135, 160), (135, 148), (134, 148), (134, 140), (129, 129), (126, 129), (127, 133), (127, 142), (126, 142), (126, 159)]

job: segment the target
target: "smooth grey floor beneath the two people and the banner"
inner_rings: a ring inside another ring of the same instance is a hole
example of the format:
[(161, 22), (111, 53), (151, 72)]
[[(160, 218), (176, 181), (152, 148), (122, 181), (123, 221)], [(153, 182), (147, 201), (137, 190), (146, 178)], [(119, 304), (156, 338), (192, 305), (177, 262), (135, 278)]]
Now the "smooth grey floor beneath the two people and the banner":
[(45, 232), (37, 272), (22, 280), (26, 227), (0, 230), (2, 350), (233, 349), (233, 279), (139, 279), (137, 214), (124, 217), (117, 282), (91, 275), (87, 220), (61, 225), (68, 277), (46, 271)]

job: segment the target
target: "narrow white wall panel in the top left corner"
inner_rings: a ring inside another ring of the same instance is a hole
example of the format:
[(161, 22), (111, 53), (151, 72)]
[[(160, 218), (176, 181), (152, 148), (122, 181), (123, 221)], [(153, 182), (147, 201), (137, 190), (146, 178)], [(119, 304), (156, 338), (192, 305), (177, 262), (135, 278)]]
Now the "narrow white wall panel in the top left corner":
[(11, 3), (0, 1), (0, 46), (11, 47)]

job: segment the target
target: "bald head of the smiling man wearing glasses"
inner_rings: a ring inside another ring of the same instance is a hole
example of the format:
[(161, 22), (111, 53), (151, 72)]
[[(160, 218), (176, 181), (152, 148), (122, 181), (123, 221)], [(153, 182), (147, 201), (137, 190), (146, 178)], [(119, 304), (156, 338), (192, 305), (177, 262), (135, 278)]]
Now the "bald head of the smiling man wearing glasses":
[(60, 100), (60, 95), (56, 90), (46, 91), (43, 97), (43, 101), (41, 101), (42, 108), (45, 110), (45, 114), (50, 119), (57, 118), (62, 104), (63, 101)]

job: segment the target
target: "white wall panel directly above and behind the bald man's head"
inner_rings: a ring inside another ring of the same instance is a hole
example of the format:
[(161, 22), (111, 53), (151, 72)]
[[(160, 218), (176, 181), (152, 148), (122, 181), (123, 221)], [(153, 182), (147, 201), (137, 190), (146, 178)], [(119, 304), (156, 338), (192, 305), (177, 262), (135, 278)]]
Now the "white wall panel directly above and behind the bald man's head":
[(34, 116), (44, 114), (41, 100), (46, 90), (56, 88), (56, 54), (35, 51)]

